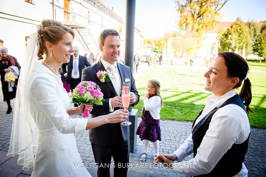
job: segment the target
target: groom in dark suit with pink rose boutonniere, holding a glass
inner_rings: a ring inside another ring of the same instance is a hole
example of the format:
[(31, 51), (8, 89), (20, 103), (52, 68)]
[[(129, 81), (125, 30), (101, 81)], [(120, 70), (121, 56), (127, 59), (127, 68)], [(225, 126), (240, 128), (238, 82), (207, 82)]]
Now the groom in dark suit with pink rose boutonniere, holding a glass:
[[(119, 64), (120, 36), (116, 30), (103, 30), (99, 36), (102, 58), (97, 64), (82, 70), (82, 81), (93, 81), (103, 92), (103, 105), (93, 105), (92, 118), (109, 114), (123, 107), (121, 100), (122, 83), (126, 78), (130, 79), (130, 106), (139, 102), (140, 95), (135, 86), (135, 79), (128, 66)], [(98, 71), (108, 72), (110, 82), (101, 82), (97, 77)], [(90, 142), (96, 163), (98, 163), (98, 177), (109, 177), (110, 171), (105, 164), (111, 164), (114, 160), (114, 176), (126, 176), (126, 163), (129, 163), (129, 126), (120, 123), (104, 124), (89, 130)], [(121, 167), (119, 168), (119, 164)], [(103, 165), (101, 167), (100, 165)], [(113, 165), (111, 165), (113, 167)]]

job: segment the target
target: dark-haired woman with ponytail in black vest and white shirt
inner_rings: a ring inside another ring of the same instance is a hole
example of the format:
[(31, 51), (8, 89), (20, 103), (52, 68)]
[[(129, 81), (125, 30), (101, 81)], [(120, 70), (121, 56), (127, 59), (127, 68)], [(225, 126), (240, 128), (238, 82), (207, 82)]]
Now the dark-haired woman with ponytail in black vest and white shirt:
[[(191, 176), (247, 176), (243, 162), (250, 134), (248, 113), (254, 112), (249, 107), (252, 95), (248, 71), (248, 64), (238, 54), (219, 52), (204, 74), (204, 88), (213, 94), (194, 120), (192, 133), (178, 150), (159, 155), (156, 162)], [(242, 82), (238, 95), (235, 88)], [(193, 159), (174, 163), (192, 153)]]

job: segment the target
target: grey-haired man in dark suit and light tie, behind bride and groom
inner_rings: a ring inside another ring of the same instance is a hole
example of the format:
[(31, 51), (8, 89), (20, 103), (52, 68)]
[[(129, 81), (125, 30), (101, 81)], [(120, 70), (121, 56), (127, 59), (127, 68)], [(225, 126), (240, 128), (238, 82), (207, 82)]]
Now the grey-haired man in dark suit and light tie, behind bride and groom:
[[(90, 66), (90, 63), (87, 61), (85, 56), (79, 55), (79, 48), (74, 46), (74, 54), (70, 56), (68, 63), (62, 63), (62, 70), (64, 76), (67, 78), (67, 83), (69, 84), (71, 92), (73, 89), (81, 82), (81, 72), (82, 69)], [(74, 59), (73, 59), (74, 56)], [(66, 70), (66, 66), (68, 70)], [(77, 104), (74, 104), (77, 107)]]

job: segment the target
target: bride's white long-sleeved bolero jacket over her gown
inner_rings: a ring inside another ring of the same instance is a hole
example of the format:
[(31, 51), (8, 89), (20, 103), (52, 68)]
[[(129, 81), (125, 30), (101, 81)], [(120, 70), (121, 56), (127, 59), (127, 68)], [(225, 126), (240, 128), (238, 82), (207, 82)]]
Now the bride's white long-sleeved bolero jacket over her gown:
[(46, 66), (35, 62), (29, 78), (30, 112), (37, 125), (49, 121), (61, 133), (85, 133), (87, 118), (69, 118), (70, 98), (61, 79)]

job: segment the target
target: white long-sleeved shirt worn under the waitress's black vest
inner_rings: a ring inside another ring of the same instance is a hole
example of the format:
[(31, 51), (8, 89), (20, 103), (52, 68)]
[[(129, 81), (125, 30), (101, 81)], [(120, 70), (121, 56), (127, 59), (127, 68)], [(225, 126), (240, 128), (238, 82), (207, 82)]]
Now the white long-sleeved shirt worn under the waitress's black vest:
[[(236, 95), (236, 92), (233, 89), (217, 99), (215, 99), (213, 94), (208, 96), (205, 108), (201, 116), (197, 118), (195, 125), (207, 113), (215, 107), (220, 107), (234, 95)], [(186, 141), (173, 153), (178, 157), (177, 161), (182, 163), (182, 165), (181, 163), (176, 163), (178, 165), (174, 165), (173, 170), (192, 176), (210, 173), (232, 145), (241, 144), (246, 141), (249, 133), (249, 119), (243, 108), (235, 104), (219, 108), (213, 114), (209, 129), (206, 131), (200, 147), (197, 149), (197, 155), (191, 160), (181, 162), (186, 156), (193, 153), (192, 133), (190, 133)], [(193, 167), (189, 168), (188, 163), (193, 163)], [(242, 163), (242, 169), (235, 177), (247, 176), (247, 173), (246, 166)]]

